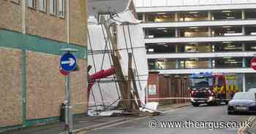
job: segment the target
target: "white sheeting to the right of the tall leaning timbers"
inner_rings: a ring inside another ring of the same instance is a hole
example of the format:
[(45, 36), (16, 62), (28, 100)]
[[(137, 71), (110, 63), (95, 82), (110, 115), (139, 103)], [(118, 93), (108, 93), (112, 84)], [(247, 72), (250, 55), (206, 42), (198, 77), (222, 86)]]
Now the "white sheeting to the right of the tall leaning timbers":
[[(128, 53), (132, 52), (132, 68), (137, 68), (135, 73), (136, 85), (140, 95), (140, 101), (145, 105), (145, 88), (148, 79), (148, 60), (146, 48), (143, 42), (143, 30), (140, 25), (118, 25), (117, 42), (122, 58), (121, 67), (125, 76), (128, 76)], [(126, 48), (128, 49), (126, 50)]]

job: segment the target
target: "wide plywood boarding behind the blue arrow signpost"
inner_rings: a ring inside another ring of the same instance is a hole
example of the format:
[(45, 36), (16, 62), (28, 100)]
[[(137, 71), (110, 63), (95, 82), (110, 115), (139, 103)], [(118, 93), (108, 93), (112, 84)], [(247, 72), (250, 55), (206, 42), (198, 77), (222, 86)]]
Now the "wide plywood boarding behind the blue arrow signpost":
[[(65, 98), (64, 76), (59, 73), (59, 56), (27, 52), (27, 119), (59, 117)], [(70, 75), (70, 90), (75, 114), (84, 113), (86, 105), (86, 60), (78, 60), (79, 71)]]

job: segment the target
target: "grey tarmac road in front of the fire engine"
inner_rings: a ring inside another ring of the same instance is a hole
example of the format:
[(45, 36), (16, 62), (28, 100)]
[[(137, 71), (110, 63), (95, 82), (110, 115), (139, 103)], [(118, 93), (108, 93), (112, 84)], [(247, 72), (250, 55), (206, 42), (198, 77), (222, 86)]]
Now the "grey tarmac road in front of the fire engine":
[[(187, 106), (168, 111), (162, 116), (144, 117), (132, 122), (105, 126), (89, 133), (94, 134), (236, 134), (240, 122), (245, 122), (249, 114), (227, 114), (227, 106)], [(153, 121), (153, 123), (151, 123)], [(187, 121), (187, 122), (186, 122)], [(157, 122), (157, 123), (156, 123)], [(169, 122), (169, 125), (166, 123)], [(179, 122), (179, 124), (178, 124)], [(165, 123), (165, 124), (164, 124)], [(176, 124), (175, 124), (176, 123)], [(155, 126), (156, 128), (151, 128)], [(157, 124), (157, 126), (156, 126)], [(168, 128), (162, 128), (167, 126)], [(246, 123), (241, 125), (246, 126)], [(183, 128), (174, 128), (183, 127)], [(190, 128), (187, 128), (190, 127)], [(203, 128), (202, 128), (203, 127)]]

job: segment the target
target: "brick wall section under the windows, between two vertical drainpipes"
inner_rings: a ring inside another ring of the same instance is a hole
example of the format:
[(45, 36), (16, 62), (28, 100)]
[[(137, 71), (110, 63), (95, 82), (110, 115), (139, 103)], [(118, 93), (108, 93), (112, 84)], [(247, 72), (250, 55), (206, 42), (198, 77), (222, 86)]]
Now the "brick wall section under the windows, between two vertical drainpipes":
[[(26, 8), (26, 26), (27, 33), (31, 35), (41, 36), (47, 39), (67, 42), (67, 24), (65, 18), (58, 17), (58, 15), (50, 15), (49, 0), (47, 3), (47, 11), (39, 11), (39, 2), (36, 1), (36, 7)], [(58, 11), (59, 2), (56, 2), (56, 11)], [(65, 11), (67, 11), (67, 6)], [(67, 13), (65, 13), (67, 16)]]

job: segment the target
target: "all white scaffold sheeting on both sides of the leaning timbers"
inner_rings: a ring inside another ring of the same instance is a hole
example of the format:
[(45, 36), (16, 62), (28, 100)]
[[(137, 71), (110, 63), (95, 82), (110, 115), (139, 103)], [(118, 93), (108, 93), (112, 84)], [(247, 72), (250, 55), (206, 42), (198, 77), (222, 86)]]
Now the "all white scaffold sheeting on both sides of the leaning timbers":
[[(108, 69), (113, 65), (110, 57), (110, 42), (107, 39), (107, 33), (102, 24), (89, 23), (89, 55), (88, 63), (93, 68), (89, 74), (94, 74), (102, 69)], [(107, 42), (107, 47), (106, 47)], [(140, 25), (117, 25), (117, 47), (121, 54), (121, 68), (124, 76), (128, 76), (128, 52), (132, 52), (132, 68), (135, 69), (135, 81), (140, 95), (140, 101), (145, 105), (145, 90), (148, 79), (148, 63), (146, 58), (146, 49), (143, 42), (143, 30)], [(103, 62), (102, 62), (103, 61)], [(96, 68), (94, 68), (94, 64)], [(112, 82), (95, 82), (91, 88), (89, 97), (89, 106), (98, 106), (97, 109), (103, 109), (102, 106), (117, 106), (121, 99), (120, 90), (114, 76), (101, 79)], [(92, 108), (92, 107), (91, 107)], [(94, 107), (95, 109), (96, 107)]]

